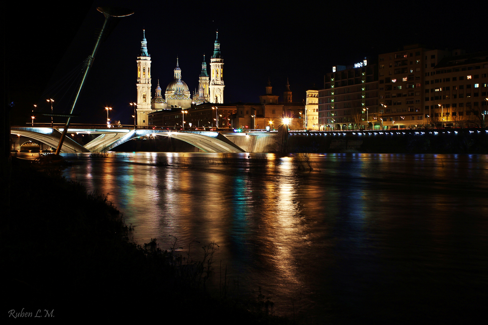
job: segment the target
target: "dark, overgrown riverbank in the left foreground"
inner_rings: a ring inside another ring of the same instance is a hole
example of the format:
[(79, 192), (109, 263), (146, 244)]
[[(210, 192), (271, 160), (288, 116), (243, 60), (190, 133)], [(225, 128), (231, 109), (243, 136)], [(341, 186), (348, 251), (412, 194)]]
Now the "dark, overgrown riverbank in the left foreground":
[(224, 286), (210, 296), (211, 244), (193, 263), (155, 240), (137, 246), (106, 196), (53, 170), (12, 165), (10, 213), (1, 218), (4, 318), (294, 323), (271, 316), (265, 297), (228, 299)]

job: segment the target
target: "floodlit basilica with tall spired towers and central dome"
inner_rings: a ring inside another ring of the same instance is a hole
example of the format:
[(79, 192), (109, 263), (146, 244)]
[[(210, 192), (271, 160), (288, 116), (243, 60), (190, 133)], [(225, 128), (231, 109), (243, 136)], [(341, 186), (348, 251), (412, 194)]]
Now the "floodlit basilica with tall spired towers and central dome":
[(191, 96), (186, 83), (182, 80), (182, 70), (178, 57), (174, 69), (173, 81), (166, 87), (164, 97), (162, 89), (156, 86), (155, 96), (151, 97), (151, 57), (147, 52), (145, 31), (142, 31), (141, 55), (137, 57), (137, 125), (149, 125), (149, 114), (156, 111), (187, 109), (203, 103), (224, 103), (224, 80), (222, 77), (224, 59), (220, 52), (219, 32), (214, 42), (214, 52), (210, 58), (210, 76), (203, 55), (202, 72), (199, 76), (199, 89)]

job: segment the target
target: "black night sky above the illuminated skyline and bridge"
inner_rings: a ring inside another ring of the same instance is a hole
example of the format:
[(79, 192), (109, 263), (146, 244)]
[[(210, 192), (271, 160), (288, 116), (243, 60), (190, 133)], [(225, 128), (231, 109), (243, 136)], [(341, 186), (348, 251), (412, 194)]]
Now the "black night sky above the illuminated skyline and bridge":
[[(173, 79), (177, 56), (182, 79), (193, 94), (203, 53), (210, 68), (218, 29), (226, 103), (258, 102), (268, 77), (273, 93), (280, 96), (288, 77), (293, 101), (302, 101), (306, 89), (323, 86), (332, 65), (377, 59), (407, 44), (488, 50), (484, 2), (426, 2), (113, 1), (135, 14), (120, 19), (102, 43), (77, 105), (80, 117), (72, 123), (104, 123), (105, 106), (114, 109), (112, 120), (132, 123), (128, 103), (136, 100), (142, 29), (152, 59), (153, 94), (158, 79), (163, 92)], [(34, 104), (38, 111), (50, 111), (46, 98), (55, 99), (55, 113), (69, 110), (78, 82), (76, 74), (69, 77), (80, 71), (76, 67), (95, 44), (103, 23), (96, 7), (104, 5), (109, 1), (70, 1), (56, 7), (4, 4), (6, 91), (8, 102), (15, 103), (13, 125), (30, 121)]]

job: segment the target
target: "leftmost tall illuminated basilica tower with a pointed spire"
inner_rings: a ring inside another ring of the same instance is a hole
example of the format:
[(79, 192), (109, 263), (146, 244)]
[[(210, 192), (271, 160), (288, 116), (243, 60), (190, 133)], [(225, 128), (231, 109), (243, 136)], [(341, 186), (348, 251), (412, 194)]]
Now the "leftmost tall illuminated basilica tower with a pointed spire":
[(137, 125), (149, 123), (151, 113), (151, 57), (147, 53), (145, 30), (142, 30), (141, 55), (137, 57)]

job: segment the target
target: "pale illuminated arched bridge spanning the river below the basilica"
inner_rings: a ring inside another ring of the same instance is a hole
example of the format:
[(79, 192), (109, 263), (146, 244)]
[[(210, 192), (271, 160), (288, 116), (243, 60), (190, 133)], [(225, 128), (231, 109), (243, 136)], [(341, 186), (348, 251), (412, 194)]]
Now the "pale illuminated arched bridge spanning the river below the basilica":
[[(64, 129), (46, 127), (11, 127), (11, 134), (18, 134), (25, 137), (41, 141), (53, 148), (56, 148)], [(82, 146), (70, 137), (66, 136), (61, 152), (64, 153), (88, 153), (109, 151), (130, 139), (147, 136), (161, 135), (170, 136), (199, 148), (206, 153), (243, 153), (245, 150), (230, 141), (226, 135), (246, 135), (234, 132), (215, 132), (215, 131), (168, 131), (153, 129), (122, 129), (122, 128), (68, 128), (68, 133), (78, 134), (100, 134), (89, 143)]]

